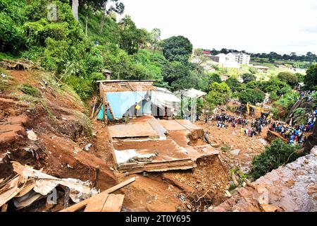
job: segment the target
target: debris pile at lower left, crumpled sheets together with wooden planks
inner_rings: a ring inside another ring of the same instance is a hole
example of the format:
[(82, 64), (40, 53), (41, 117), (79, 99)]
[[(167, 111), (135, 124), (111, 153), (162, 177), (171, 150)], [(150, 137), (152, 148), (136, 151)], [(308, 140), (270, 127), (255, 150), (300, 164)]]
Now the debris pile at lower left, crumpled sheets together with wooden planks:
[[(133, 177), (99, 194), (96, 189), (90, 189), (91, 182), (82, 182), (73, 178), (58, 179), (45, 174), (42, 170), (20, 165), (19, 162), (12, 162), (12, 165), (16, 175), (0, 179), (2, 212), (8, 210), (8, 203), (11, 200), (15, 210), (21, 210), (31, 207), (44, 198), (46, 198), (45, 208), (49, 211), (73, 212), (87, 206), (85, 212), (120, 212), (124, 195), (111, 193), (135, 182)], [(69, 199), (76, 204), (68, 207)], [(63, 206), (58, 205), (60, 201)]]

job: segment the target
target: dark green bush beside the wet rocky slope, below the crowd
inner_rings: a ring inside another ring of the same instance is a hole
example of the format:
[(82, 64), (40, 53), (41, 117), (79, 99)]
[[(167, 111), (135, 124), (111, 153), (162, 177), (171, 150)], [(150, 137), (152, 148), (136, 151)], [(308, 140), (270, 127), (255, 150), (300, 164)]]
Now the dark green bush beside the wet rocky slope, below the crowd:
[(258, 179), (281, 165), (293, 162), (299, 156), (301, 155), (297, 153), (297, 148), (276, 138), (271, 145), (266, 146), (263, 153), (254, 157), (250, 175), (254, 179)]

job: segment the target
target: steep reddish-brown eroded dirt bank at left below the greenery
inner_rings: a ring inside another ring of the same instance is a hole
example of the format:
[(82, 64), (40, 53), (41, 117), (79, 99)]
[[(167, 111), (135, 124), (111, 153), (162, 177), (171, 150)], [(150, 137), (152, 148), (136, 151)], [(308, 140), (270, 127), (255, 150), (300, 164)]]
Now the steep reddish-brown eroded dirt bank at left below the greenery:
[[(93, 142), (92, 128), (78, 97), (42, 71), (7, 73), (13, 82), (1, 90), (0, 178), (13, 173), (10, 161), (15, 160), (55, 177), (89, 180), (101, 190), (116, 184), (106, 162), (94, 156), (94, 147), (85, 150)], [(41, 96), (25, 95), (20, 83), (33, 85)]]

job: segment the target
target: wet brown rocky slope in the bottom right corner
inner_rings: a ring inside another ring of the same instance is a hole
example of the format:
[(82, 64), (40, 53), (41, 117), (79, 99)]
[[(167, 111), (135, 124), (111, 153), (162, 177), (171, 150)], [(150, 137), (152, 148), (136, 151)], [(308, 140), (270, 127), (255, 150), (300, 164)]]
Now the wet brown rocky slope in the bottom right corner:
[(294, 162), (260, 177), (212, 211), (316, 212), (317, 156), (299, 157)]

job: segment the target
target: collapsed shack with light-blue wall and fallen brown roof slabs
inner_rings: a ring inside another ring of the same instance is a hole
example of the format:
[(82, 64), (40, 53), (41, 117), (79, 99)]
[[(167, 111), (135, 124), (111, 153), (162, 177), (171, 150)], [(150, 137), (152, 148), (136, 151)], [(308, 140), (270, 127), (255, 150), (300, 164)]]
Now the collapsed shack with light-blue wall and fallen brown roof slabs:
[[(204, 143), (204, 130), (185, 119), (173, 119), (180, 99), (154, 81), (99, 81), (98, 119), (125, 124), (108, 126), (113, 163), (120, 172), (192, 169), (197, 158), (217, 155)], [(168, 120), (173, 119), (173, 120)], [(189, 145), (201, 141), (203, 145)]]

